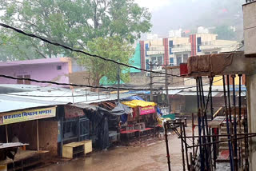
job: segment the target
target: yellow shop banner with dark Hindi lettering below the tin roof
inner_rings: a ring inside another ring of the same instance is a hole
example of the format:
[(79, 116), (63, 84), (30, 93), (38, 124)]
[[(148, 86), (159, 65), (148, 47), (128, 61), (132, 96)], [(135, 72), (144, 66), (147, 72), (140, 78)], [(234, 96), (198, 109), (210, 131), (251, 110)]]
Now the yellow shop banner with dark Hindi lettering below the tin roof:
[(56, 107), (43, 109), (21, 110), (0, 115), (0, 125), (13, 124), (21, 121), (31, 121), (56, 116)]

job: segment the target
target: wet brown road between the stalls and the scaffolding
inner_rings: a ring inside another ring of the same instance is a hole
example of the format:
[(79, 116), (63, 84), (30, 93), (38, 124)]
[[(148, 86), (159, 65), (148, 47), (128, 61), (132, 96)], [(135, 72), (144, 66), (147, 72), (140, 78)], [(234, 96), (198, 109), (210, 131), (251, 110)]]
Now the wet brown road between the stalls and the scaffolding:
[[(186, 129), (187, 135), (191, 133), (191, 127)], [(137, 146), (120, 146), (107, 151), (90, 154), (60, 164), (50, 165), (38, 171), (166, 171), (166, 142), (157, 140), (153, 143), (142, 143)], [(170, 161), (172, 171), (182, 170), (182, 153), (180, 139), (175, 133), (169, 135)]]

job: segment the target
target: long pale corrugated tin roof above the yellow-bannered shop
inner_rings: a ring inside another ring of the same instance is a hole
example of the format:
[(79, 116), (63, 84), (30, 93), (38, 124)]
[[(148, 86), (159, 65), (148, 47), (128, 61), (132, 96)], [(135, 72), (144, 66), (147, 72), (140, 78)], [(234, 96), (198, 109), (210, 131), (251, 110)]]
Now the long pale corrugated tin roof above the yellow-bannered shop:
[[(0, 113), (14, 110), (37, 108), (50, 105), (66, 105), (68, 103), (80, 103), (89, 105), (101, 101), (113, 101), (118, 99), (118, 94), (94, 93), (89, 90), (40, 87), (36, 85), (0, 85), (17, 89), (32, 91), (18, 93), (0, 93)], [(86, 94), (87, 93), (87, 97)], [(74, 96), (74, 97), (72, 97)], [(120, 93), (120, 98), (134, 96), (134, 94)]]

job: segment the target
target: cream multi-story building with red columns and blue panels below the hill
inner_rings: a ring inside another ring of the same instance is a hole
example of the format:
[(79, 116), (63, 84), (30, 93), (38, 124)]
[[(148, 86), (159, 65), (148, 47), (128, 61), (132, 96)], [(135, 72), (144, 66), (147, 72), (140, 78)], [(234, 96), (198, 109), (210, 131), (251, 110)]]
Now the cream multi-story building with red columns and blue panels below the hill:
[(143, 69), (150, 69), (149, 62), (153, 62), (153, 70), (162, 70), (161, 66), (179, 66), (186, 63), (187, 58), (202, 54), (219, 54), (237, 50), (239, 42), (218, 40), (217, 34), (190, 34), (189, 37), (175, 36), (140, 41), (141, 64)]

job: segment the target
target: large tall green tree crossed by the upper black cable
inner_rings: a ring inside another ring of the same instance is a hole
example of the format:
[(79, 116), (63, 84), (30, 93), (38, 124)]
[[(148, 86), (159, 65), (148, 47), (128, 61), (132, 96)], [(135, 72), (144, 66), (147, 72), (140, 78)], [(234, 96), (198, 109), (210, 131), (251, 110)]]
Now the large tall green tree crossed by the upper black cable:
[[(119, 36), (133, 43), (151, 27), (149, 11), (134, 0), (0, 0), (0, 10), (2, 22), (78, 49), (99, 37)], [(15, 59), (74, 57), (69, 50), (34, 38), (12, 38), (14, 32), (6, 29), (0, 33), (0, 38), (8, 37), (5, 45)]]

